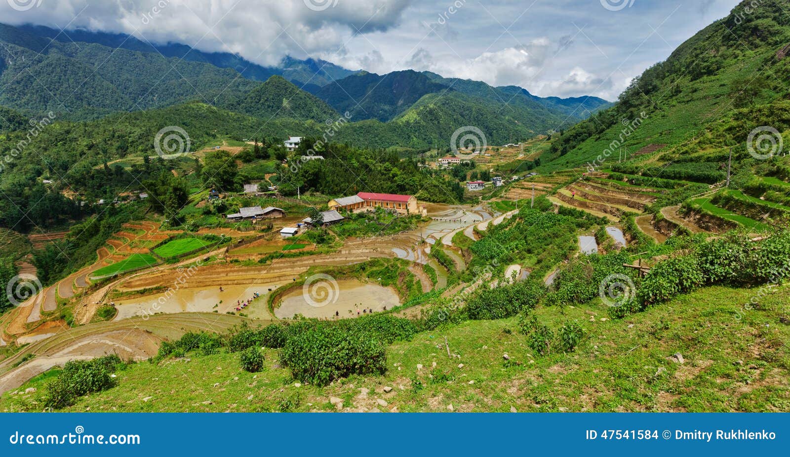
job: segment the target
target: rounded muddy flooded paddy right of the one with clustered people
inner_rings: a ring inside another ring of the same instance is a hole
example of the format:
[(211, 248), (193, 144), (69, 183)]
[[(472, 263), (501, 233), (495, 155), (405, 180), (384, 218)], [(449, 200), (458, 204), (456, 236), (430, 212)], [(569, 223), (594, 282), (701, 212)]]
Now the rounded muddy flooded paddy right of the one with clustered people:
[[(362, 308), (372, 308), (374, 312), (379, 312), (385, 306), (392, 309), (401, 304), (395, 290), (374, 283), (362, 283), (356, 279), (341, 279), (337, 281), (337, 287), (331, 283), (314, 283), (314, 286), (321, 288), (313, 289), (312, 292), (304, 290), (303, 287), (289, 291), (274, 309), (274, 315), (280, 319), (294, 317), (295, 314), (304, 317), (334, 317), (335, 312), (339, 312), (340, 317), (356, 317), (357, 309), (361, 311)], [(352, 313), (348, 313), (349, 309)]]

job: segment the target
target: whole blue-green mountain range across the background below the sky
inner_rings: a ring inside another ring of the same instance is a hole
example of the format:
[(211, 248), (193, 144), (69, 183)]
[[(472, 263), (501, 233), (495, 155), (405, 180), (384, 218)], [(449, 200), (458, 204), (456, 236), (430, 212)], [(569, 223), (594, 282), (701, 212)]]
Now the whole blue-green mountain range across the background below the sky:
[(29, 116), (52, 111), (77, 121), (190, 102), (258, 118), (318, 122), (346, 111), (355, 122), (393, 122), (402, 116), (413, 120), (416, 112), (457, 109), (485, 111), (481, 129), (487, 123), (510, 124), (510, 138), (559, 129), (608, 106), (595, 97), (541, 99), (522, 88), (492, 88), (412, 70), (377, 75), (309, 58), (286, 57), (280, 66), (265, 67), (180, 43), (38, 25), (0, 24), (0, 43), (0, 105)]

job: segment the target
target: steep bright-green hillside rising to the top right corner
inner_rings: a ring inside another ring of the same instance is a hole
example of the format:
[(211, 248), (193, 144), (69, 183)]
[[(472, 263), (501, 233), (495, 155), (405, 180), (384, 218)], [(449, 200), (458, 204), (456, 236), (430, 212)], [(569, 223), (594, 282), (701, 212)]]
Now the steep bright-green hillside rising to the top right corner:
[[(782, 76), (790, 68), (790, 2), (762, 2), (745, 13), (748, 3), (646, 70), (614, 107), (566, 129), (547, 156), (554, 160), (544, 170), (601, 162), (608, 166), (619, 160), (620, 152), (633, 157), (649, 145), (660, 146), (660, 152), (636, 158), (635, 165), (721, 163), (729, 145), (739, 159), (746, 157), (751, 129), (770, 125), (786, 130), (783, 107), (771, 103), (790, 94)], [(734, 125), (742, 121), (747, 123)], [(610, 155), (596, 160), (612, 146)]]

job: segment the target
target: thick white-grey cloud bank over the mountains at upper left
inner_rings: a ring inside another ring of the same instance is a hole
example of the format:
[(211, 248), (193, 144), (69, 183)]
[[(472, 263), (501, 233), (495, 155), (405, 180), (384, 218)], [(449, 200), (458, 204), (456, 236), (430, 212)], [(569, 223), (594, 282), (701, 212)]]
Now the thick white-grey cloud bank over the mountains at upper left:
[[(19, 11), (0, 2), (9, 24), (128, 33), (152, 43), (239, 53), (261, 65), (285, 55), (337, 50), (356, 34), (397, 27), (412, 0), (58, 0)], [(18, 3), (18, 2), (17, 2)], [(310, 7), (312, 6), (312, 8)]]

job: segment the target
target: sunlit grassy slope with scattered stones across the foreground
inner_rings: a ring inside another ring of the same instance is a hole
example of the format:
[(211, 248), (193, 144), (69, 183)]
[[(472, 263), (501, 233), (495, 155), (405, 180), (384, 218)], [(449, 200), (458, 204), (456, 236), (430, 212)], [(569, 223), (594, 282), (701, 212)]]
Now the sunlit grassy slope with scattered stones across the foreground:
[[(385, 375), (351, 376), (326, 388), (296, 387), (276, 350), (265, 350), (265, 368), (255, 374), (239, 369), (239, 354), (141, 362), (117, 373), (117, 387), (66, 410), (329, 411), (335, 396), (345, 410), (787, 411), (790, 287), (761, 298), (758, 310), (743, 310), (754, 293), (705, 288), (626, 320), (604, 318), (600, 302), (538, 309), (552, 328), (575, 320), (585, 329), (575, 352), (545, 357), (529, 349), (516, 319), (438, 328), (389, 346)], [(457, 356), (447, 356), (445, 337)], [(17, 391), (40, 393), (51, 376)], [(31, 403), (36, 395), (6, 393), (0, 411), (40, 410)]]

